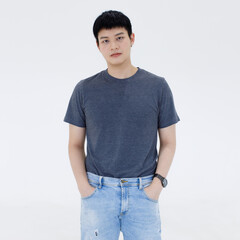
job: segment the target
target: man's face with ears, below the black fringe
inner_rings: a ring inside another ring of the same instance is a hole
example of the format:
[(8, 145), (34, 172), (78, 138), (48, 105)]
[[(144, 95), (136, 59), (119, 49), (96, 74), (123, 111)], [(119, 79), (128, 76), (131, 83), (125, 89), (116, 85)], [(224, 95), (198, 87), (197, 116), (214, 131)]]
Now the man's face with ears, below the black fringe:
[[(124, 62), (130, 63), (131, 45), (134, 43), (134, 33), (131, 39), (128, 32), (123, 27), (112, 29), (101, 29), (98, 33), (99, 51), (109, 65), (121, 65)], [(119, 53), (118, 55), (112, 55)]]

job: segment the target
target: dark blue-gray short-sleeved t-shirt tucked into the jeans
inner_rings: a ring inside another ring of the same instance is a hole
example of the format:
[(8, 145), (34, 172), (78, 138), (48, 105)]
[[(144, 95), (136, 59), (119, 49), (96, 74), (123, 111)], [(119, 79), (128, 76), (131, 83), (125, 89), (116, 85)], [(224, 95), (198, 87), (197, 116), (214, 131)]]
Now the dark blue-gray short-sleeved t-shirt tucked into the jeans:
[(64, 121), (86, 128), (86, 171), (130, 178), (155, 173), (158, 128), (180, 118), (167, 81), (138, 67), (129, 78), (105, 69), (79, 81)]

